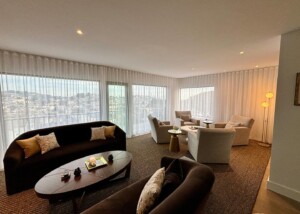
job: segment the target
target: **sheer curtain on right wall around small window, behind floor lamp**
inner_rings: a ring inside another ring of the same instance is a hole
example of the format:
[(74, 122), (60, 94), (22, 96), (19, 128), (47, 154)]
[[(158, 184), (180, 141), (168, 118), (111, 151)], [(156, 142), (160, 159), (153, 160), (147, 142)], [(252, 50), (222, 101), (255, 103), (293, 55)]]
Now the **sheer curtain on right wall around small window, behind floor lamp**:
[[(203, 75), (179, 80), (179, 88), (214, 87), (214, 121), (228, 121), (233, 114), (254, 118), (251, 138), (261, 140), (264, 109), (261, 102), (267, 100), (266, 93), (272, 91), (268, 113), (268, 142), (272, 142), (274, 109), (276, 97), (278, 67)], [(199, 100), (198, 102), (202, 102)], [(201, 105), (199, 103), (199, 105)]]

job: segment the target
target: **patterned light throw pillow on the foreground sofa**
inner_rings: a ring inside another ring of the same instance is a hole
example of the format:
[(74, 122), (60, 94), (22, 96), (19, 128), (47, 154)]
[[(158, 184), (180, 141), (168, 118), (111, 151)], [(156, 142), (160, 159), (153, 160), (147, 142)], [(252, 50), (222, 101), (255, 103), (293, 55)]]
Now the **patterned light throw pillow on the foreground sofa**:
[(148, 213), (158, 198), (165, 178), (165, 168), (158, 169), (144, 186), (140, 195), (137, 214)]

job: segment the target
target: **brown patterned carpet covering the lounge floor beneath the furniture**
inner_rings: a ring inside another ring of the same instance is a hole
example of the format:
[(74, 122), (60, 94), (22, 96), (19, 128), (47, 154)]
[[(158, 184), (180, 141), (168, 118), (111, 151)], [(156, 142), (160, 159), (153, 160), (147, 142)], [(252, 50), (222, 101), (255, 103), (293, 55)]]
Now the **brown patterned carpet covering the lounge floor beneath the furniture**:
[[(168, 144), (155, 144), (149, 134), (128, 139), (127, 150), (133, 155), (130, 179), (86, 194), (81, 211), (152, 174), (159, 168), (163, 156), (191, 157), (185, 136), (180, 136), (179, 153), (169, 152)], [(251, 213), (269, 157), (270, 148), (260, 147), (251, 141), (249, 146), (232, 148), (230, 165), (209, 164), (215, 172), (216, 180), (203, 213)], [(0, 213), (73, 212), (71, 201), (49, 205), (47, 200), (38, 198), (33, 189), (7, 196), (3, 171), (0, 172), (0, 207)]]

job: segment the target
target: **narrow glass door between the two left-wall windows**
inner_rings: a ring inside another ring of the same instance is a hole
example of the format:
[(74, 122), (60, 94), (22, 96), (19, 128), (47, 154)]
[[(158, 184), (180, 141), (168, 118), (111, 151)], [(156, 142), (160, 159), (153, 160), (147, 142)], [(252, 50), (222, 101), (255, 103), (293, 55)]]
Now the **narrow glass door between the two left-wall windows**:
[(108, 120), (128, 131), (128, 86), (121, 83), (107, 83)]

